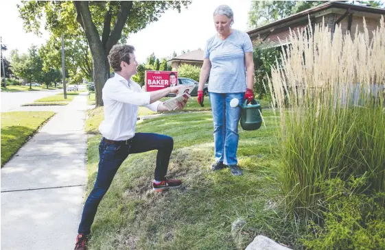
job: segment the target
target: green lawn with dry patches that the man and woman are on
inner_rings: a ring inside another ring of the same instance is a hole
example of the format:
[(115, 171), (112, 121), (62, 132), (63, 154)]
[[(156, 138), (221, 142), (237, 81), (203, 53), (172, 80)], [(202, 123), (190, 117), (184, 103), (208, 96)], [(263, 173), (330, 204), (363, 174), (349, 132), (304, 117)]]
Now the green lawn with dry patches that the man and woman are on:
[[(237, 155), (244, 168), (240, 177), (233, 177), (229, 169), (209, 171), (213, 162), (209, 112), (139, 123), (137, 132), (174, 138), (168, 173), (183, 179), (183, 187), (152, 192), (156, 151), (130, 155), (100, 203), (89, 249), (236, 249), (231, 223), (239, 217), (246, 219), (242, 249), (259, 234), (298, 249), (302, 227), (285, 217), (277, 181), (279, 124), (270, 110), (264, 118), (266, 128), (248, 132), (240, 128)], [(89, 138), (87, 195), (97, 175), (99, 142), (100, 135)]]

